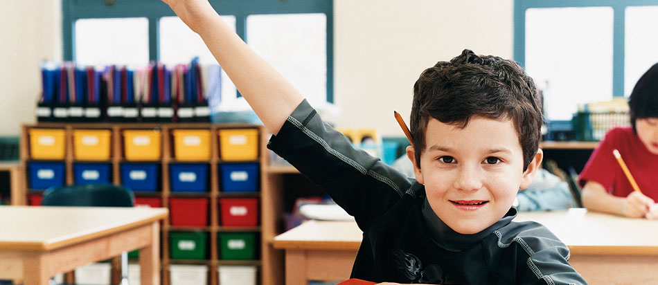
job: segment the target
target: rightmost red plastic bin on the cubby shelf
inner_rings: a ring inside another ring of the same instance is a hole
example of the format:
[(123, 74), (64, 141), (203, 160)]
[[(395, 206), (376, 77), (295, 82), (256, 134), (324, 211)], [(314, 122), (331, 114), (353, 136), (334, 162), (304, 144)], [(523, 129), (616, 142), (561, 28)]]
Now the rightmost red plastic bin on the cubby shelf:
[(222, 226), (258, 226), (258, 199), (221, 198)]

